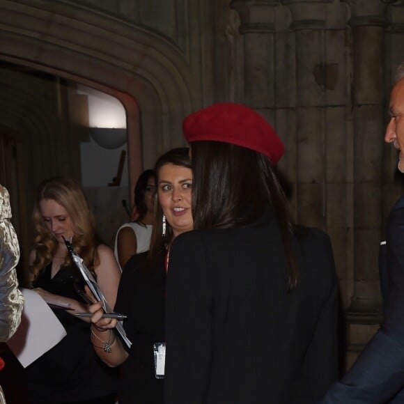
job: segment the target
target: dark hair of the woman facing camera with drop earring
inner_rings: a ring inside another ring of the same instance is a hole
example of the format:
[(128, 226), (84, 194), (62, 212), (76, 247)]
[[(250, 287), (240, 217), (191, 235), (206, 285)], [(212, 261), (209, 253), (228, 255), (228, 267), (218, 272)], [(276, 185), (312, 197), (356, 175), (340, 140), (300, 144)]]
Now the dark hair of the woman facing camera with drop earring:
[[(166, 164), (173, 164), (175, 166), (186, 167), (187, 169), (192, 169), (191, 160), (189, 160), (189, 148), (173, 148), (164, 155), (157, 159), (154, 167), (155, 173), (155, 189), (159, 183), (160, 169)], [(157, 191), (156, 191), (157, 192)], [(171, 242), (173, 238), (173, 230), (168, 222), (166, 222), (166, 235), (162, 235), (162, 217), (163, 210), (158, 201), (156, 195), (155, 198), (155, 217), (153, 222), (153, 231), (150, 240), (150, 250), (148, 254), (149, 263), (154, 261), (155, 258), (160, 254), (162, 249), (165, 249), (167, 244)]]

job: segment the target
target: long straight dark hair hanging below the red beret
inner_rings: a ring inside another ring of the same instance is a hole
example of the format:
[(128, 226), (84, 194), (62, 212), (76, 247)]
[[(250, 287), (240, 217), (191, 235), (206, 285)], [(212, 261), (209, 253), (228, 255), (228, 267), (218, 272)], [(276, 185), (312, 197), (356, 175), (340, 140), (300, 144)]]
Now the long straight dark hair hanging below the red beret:
[(194, 229), (244, 226), (271, 209), (279, 222), (288, 262), (288, 289), (295, 288), (297, 265), (290, 240), (294, 226), (270, 159), (219, 141), (194, 141), (191, 149)]

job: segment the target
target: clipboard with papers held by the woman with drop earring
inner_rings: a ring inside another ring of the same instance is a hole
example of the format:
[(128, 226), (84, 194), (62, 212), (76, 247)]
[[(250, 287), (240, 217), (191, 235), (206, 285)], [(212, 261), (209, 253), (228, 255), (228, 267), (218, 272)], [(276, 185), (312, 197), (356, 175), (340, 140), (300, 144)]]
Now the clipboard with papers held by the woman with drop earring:
[[(63, 238), (63, 240), (65, 240), (65, 238)], [(112, 310), (111, 306), (109, 306), (107, 299), (105, 299), (104, 293), (102, 293), (100, 286), (98, 286), (97, 281), (95, 281), (93, 274), (91, 274), (86, 265), (84, 265), (83, 259), (77, 255), (77, 252), (72, 246), (72, 243), (68, 240), (65, 240), (65, 244), (70, 253), (70, 256), (72, 257), (72, 261), (75, 263), (77, 268), (79, 268), (79, 271), (81, 272), (84, 281), (86, 281), (88, 288), (90, 288), (91, 293), (93, 293), (95, 299), (97, 299), (98, 302), (102, 302), (102, 309), (104, 309), (104, 312), (114, 313), (114, 310)], [(132, 346), (132, 342), (127, 338), (125, 329), (123, 328), (121, 321), (118, 321), (118, 323), (116, 323), (116, 329), (121, 335), (127, 347), (130, 348)]]

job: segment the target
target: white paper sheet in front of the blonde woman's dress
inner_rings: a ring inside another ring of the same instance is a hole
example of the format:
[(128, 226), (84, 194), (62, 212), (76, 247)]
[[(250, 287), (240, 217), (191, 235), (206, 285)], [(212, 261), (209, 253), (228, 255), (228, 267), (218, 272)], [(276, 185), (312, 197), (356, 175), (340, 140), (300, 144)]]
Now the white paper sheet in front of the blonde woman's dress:
[(22, 288), (21, 291), (24, 295), (21, 324), (6, 343), (26, 368), (59, 343), (66, 330), (35, 290)]

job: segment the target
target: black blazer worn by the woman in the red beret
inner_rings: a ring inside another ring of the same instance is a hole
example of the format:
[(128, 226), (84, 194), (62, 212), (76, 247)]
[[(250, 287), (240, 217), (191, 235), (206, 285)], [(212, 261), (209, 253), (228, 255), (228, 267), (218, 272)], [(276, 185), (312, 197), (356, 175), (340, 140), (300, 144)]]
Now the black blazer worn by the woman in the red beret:
[(314, 403), (337, 378), (337, 281), (328, 236), (294, 240), (287, 291), (277, 221), (173, 242), (166, 288), (166, 404)]

